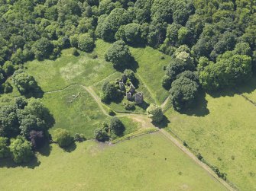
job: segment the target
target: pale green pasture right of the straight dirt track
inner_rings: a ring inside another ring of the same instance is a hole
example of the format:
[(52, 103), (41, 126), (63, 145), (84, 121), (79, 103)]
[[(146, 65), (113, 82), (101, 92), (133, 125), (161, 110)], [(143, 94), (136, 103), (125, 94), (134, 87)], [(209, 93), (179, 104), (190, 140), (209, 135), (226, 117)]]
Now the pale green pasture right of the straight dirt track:
[[(209, 114), (189, 116), (169, 110), (168, 129), (228, 174), (241, 190), (256, 189), (256, 107), (238, 94), (206, 96)], [(201, 113), (203, 114), (203, 113)]]

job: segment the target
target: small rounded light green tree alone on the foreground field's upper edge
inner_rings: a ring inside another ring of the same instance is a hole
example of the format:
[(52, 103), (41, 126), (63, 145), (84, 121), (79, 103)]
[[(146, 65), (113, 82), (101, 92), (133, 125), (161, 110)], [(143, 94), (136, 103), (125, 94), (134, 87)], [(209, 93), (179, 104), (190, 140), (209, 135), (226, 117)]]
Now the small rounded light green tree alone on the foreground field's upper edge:
[(52, 134), (52, 138), (53, 142), (57, 142), (61, 148), (66, 148), (73, 142), (73, 137), (66, 129), (55, 129)]

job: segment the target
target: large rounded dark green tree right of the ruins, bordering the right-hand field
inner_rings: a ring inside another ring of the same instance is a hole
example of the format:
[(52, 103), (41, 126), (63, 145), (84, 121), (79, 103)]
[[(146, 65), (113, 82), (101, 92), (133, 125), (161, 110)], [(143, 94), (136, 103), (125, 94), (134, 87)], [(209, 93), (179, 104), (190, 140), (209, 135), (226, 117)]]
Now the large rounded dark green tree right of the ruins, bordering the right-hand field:
[(170, 89), (170, 100), (175, 110), (181, 111), (192, 107), (199, 94), (199, 84), (181, 75), (173, 81)]

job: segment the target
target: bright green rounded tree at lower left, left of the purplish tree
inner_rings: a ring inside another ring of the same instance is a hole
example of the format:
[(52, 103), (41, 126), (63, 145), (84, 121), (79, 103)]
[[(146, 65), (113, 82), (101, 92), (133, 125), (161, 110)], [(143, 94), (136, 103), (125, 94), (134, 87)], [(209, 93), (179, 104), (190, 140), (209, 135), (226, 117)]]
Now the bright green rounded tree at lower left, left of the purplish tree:
[(28, 163), (33, 156), (31, 142), (28, 142), (24, 137), (18, 136), (11, 139), (10, 145), (11, 157), (15, 163)]

